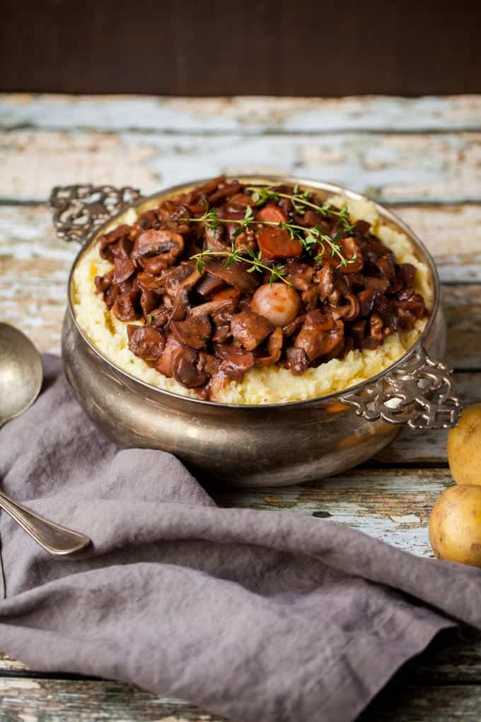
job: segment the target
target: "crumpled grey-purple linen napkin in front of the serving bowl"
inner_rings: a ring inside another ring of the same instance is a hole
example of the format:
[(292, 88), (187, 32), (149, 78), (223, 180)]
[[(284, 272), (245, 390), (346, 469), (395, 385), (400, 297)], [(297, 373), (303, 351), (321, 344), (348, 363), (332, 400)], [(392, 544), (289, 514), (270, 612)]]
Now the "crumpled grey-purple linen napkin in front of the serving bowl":
[(40, 399), (0, 432), (1, 484), (93, 544), (50, 557), (1, 513), (1, 650), (241, 722), (343, 722), (451, 617), (481, 628), (480, 571), (217, 508), (173, 456), (102, 437), (44, 363)]

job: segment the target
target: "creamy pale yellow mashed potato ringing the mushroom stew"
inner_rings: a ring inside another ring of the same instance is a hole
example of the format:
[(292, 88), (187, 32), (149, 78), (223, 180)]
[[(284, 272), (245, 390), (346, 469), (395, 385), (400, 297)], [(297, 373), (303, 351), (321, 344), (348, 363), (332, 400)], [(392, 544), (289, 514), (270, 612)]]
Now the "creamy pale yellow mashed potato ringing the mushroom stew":
[[(416, 258), (407, 236), (383, 223), (371, 201), (350, 201), (339, 196), (330, 201), (337, 206), (347, 203), (350, 217), (370, 222), (373, 232), (394, 251), (398, 263), (416, 266), (415, 290), (423, 295), (426, 307), (431, 310), (433, 285), (429, 269)], [(156, 205), (156, 201), (152, 201), (151, 207)], [(143, 205), (142, 212), (145, 210), (146, 206)], [(131, 209), (123, 222), (131, 225), (135, 221), (136, 212)], [(118, 222), (112, 224), (112, 228), (116, 225)], [(162, 375), (128, 349), (128, 323), (119, 321), (110, 313), (102, 296), (95, 292), (94, 278), (102, 276), (112, 268), (110, 261), (100, 256), (97, 243), (84, 253), (77, 264), (73, 279), (73, 302), (79, 326), (103, 356), (127, 373), (165, 391), (198, 398), (195, 391), (185, 388), (174, 378)], [(425, 318), (418, 319), (413, 329), (388, 336), (378, 349), (354, 349), (342, 360), (332, 359), (317, 368), (307, 369), (300, 376), (294, 376), (288, 369), (278, 366), (259, 366), (246, 373), (240, 383), (231, 380), (223, 384), (214, 378), (211, 399), (225, 404), (273, 404), (281, 401), (304, 401), (344, 391), (397, 361), (418, 340), (426, 322)], [(129, 323), (140, 325), (142, 321)]]

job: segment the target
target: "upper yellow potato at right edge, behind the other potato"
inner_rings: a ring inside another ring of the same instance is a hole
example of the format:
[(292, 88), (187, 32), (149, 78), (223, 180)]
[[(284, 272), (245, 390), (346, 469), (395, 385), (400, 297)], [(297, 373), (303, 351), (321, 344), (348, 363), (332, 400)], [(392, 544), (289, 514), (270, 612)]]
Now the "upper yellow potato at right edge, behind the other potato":
[(467, 406), (449, 432), (448, 461), (456, 484), (481, 484), (481, 404)]

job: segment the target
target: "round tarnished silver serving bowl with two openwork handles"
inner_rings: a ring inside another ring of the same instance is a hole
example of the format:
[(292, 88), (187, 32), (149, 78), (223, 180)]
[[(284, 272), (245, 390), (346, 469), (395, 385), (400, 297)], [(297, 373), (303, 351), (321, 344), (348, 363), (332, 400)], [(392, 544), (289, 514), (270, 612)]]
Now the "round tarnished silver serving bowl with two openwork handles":
[[(241, 177), (243, 183), (298, 183), (323, 199), (342, 193), (363, 196), (329, 183), (302, 178)], [(54, 188), (58, 235), (85, 249), (103, 228), (131, 206), (142, 212), (153, 199), (190, 190), (201, 181), (142, 198), (133, 188)], [(63, 323), (66, 375), (94, 423), (123, 447), (156, 448), (178, 456), (200, 477), (237, 486), (280, 486), (309, 482), (360, 464), (389, 444), (402, 425), (425, 429), (456, 425), (461, 412), (451, 370), (435, 360), (444, 355), (446, 325), (438, 274), (417, 236), (388, 209), (380, 216), (412, 241), (428, 265), (434, 292), (431, 317), (418, 342), (383, 373), (341, 393), (282, 404), (236, 405), (189, 399), (150, 386), (119, 367), (92, 345), (76, 322), (69, 279), (69, 307)]]

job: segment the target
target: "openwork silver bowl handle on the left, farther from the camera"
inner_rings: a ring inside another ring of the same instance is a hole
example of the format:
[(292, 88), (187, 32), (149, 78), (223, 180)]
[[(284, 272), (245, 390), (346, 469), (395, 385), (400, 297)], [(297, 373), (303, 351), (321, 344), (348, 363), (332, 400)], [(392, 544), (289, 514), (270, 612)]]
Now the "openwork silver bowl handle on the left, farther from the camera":
[(130, 186), (56, 186), (50, 207), (58, 238), (84, 244), (109, 218), (141, 198), (141, 192)]

